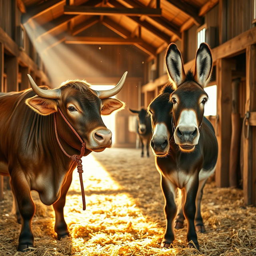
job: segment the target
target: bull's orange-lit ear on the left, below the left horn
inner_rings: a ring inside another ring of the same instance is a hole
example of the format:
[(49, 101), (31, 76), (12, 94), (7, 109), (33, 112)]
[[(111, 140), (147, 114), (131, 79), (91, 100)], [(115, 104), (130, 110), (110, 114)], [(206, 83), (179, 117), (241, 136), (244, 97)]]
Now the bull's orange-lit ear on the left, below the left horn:
[(40, 115), (47, 116), (57, 112), (56, 100), (34, 96), (26, 99), (26, 104)]

